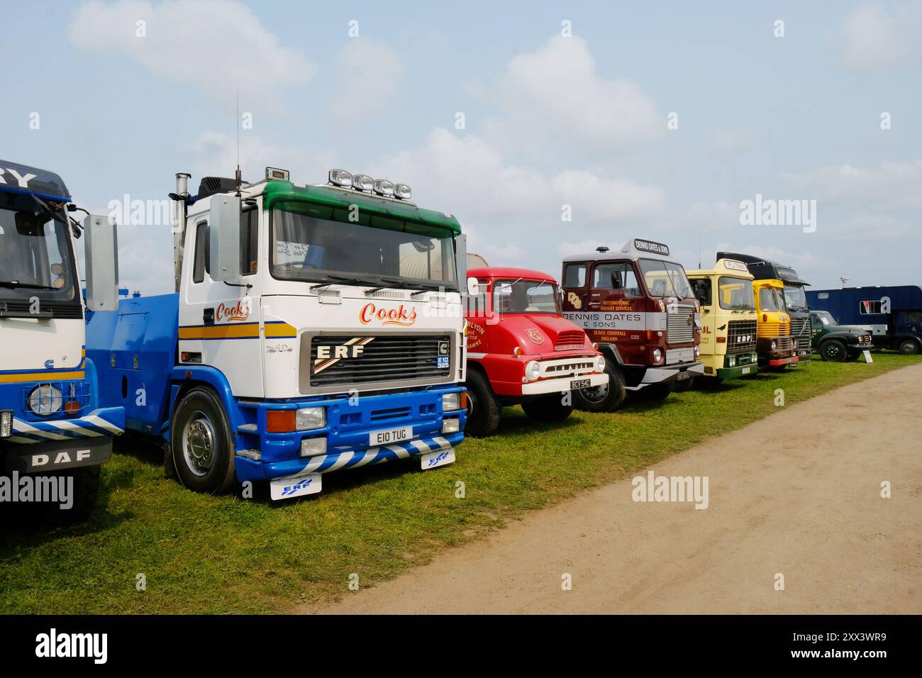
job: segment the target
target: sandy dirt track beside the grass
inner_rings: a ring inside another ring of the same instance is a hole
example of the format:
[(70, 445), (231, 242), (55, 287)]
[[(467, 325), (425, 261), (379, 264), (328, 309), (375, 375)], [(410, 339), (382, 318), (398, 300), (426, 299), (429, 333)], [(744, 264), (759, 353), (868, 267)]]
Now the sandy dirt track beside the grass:
[(922, 613), (920, 382), (843, 387), (654, 467), (708, 476), (706, 509), (635, 503), (627, 479), (301, 612)]

